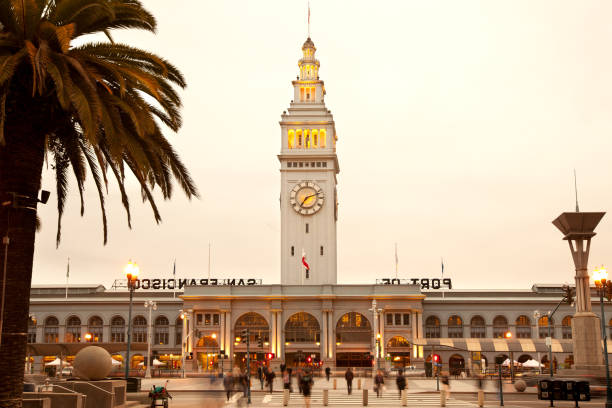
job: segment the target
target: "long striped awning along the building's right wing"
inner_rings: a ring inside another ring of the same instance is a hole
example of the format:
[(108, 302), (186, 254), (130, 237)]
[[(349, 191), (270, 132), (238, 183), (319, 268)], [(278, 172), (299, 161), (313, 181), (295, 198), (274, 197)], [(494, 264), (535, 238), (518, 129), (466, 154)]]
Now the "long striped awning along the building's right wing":
[[(495, 352), (500, 354), (548, 352), (545, 339), (415, 339), (414, 344), (433, 347), (438, 350), (465, 350)], [(612, 349), (608, 347), (609, 353)], [(572, 353), (573, 343), (571, 339), (552, 339), (553, 353)]]

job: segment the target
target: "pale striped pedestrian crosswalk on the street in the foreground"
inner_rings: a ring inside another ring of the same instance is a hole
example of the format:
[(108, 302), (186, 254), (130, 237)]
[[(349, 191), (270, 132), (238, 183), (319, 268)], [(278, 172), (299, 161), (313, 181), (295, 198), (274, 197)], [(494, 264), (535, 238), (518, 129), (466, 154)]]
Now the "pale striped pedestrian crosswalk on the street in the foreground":
[[(438, 393), (423, 393), (423, 394), (407, 394), (407, 406), (409, 407), (439, 407), (440, 406), (440, 395)], [(269, 406), (282, 406), (283, 405), (283, 394), (274, 393), (268, 394), (263, 400), (264, 404)], [(310, 403), (313, 406), (323, 405), (323, 391), (315, 390), (312, 393)], [(351, 395), (347, 395), (346, 392), (330, 391), (328, 404), (330, 406), (337, 405), (363, 405), (363, 392), (361, 390), (353, 391)], [(368, 406), (401, 406), (401, 401), (397, 392), (385, 392), (382, 397), (377, 398), (376, 393), (369, 392), (368, 394)], [(291, 393), (289, 399), (289, 406), (304, 406), (304, 397), (299, 393)], [(468, 401), (456, 400), (449, 398), (446, 401), (446, 406), (451, 408), (466, 408), (476, 407), (475, 404)]]

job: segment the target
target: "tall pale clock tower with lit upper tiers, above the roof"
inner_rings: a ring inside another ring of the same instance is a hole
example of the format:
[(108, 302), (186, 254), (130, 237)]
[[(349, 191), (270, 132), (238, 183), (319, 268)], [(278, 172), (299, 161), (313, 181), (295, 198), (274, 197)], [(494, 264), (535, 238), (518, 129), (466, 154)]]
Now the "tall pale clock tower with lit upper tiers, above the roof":
[[(336, 128), (325, 107), (316, 48), (308, 37), (293, 100), (281, 115), (281, 284), (337, 281)], [(308, 265), (308, 268), (306, 267)]]

